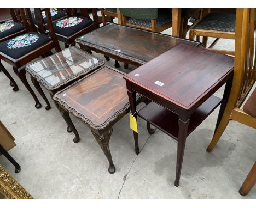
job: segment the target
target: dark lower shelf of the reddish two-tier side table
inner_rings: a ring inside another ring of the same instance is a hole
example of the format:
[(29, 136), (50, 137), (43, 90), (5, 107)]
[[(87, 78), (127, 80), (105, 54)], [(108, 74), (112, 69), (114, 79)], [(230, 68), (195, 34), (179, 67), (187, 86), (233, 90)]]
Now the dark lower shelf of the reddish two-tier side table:
[[(200, 107), (198, 107), (193, 114), (191, 114), (188, 135), (193, 132), (196, 127), (214, 111), (214, 109), (218, 107), (221, 101), (222, 99), (212, 95)], [(139, 110), (137, 115), (144, 120), (149, 121), (150, 124), (154, 125), (172, 138), (178, 140), (179, 126), (177, 114), (155, 102), (150, 102), (147, 106)]]

